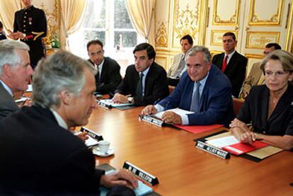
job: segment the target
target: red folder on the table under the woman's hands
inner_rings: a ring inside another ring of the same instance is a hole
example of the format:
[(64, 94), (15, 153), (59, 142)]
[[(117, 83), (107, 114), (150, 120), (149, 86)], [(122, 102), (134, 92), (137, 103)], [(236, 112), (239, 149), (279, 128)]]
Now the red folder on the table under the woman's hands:
[(250, 151), (254, 151), (256, 149), (261, 149), (265, 146), (268, 146), (268, 144), (264, 142), (255, 141), (253, 144), (243, 144), (243, 143), (237, 143), (232, 144), (230, 146), (224, 146), (222, 149), (225, 151), (231, 152), (231, 154), (241, 155)]

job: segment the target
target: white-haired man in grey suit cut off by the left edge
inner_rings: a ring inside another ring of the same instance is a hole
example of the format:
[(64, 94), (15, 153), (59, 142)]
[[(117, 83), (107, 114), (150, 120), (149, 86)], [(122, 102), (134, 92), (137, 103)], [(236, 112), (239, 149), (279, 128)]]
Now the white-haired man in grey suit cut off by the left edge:
[[(0, 42), (0, 121), (19, 110), (13, 93), (28, 88), (33, 69), (30, 67), (30, 48), (23, 42), (2, 40)], [(25, 101), (23, 105), (30, 105)]]

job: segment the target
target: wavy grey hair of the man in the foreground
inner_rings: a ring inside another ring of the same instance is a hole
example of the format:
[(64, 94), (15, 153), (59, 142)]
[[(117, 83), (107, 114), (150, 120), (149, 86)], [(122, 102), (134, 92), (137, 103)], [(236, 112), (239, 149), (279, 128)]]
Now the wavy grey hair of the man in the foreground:
[(97, 73), (87, 60), (59, 51), (40, 60), (33, 75), (33, 103), (44, 108), (59, 107), (59, 92), (67, 90), (79, 96), (86, 83), (84, 69)]

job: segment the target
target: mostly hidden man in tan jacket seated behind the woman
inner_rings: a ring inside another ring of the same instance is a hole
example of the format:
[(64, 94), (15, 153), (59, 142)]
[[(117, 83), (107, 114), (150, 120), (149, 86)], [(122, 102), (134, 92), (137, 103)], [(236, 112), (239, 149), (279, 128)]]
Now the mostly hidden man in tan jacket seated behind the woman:
[[(263, 54), (265, 57), (270, 54), (270, 52), (274, 50), (281, 50), (281, 46), (277, 43), (268, 43), (265, 45), (265, 50), (263, 50)], [(260, 69), (260, 62), (256, 62), (251, 67), (251, 71), (249, 72), (248, 77), (243, 82), (243, 86), (241, 88), (241, 92), (239, 94), (239, 98), (246, 98), (249, 91), (251, 91), (251, 87), (255, 85), (261, 85), (265, 82), (265, 76), (263, 75), (263, 71)]]

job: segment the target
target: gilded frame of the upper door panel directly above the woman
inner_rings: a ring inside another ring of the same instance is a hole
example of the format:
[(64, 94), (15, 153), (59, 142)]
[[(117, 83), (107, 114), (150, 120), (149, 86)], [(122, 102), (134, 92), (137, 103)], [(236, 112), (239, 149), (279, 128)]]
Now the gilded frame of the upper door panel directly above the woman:
[(258, 13), (255, 13), (255, 1), (251, 0), (251, 6), (249, 10), (249, 25), (280, 25), (281, 13), (283, 12), (283, 0), (277, 0), (277, 13), (272, 14), (269, 19), (260, 18)]

